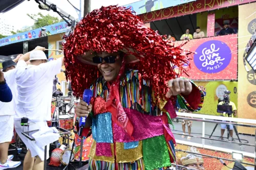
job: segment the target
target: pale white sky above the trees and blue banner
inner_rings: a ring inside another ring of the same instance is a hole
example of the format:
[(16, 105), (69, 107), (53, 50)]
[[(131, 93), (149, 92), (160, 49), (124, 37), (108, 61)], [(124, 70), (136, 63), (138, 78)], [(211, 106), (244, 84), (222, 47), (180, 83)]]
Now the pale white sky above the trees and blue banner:
[[(49, 2), (57, 5), (58, 8), (62, 9), (63, 11), (67, 12), (71, 16), (78, 18), (78, 15), (75, 9), (68, 3), (67, 0), (48, 0)], [(82, 1), (82, 11), (83, 11), (83, 0)], [(109, 5), (127, 5), (140, 0), (91, 0), (91, 10), (100, 8), (101, 6), (109, 6)], [(79, 9), (80, 0), (70, 0), (70, 2)], [(17, 7), (13, 8), (12, 10), (0, 14), (0, 18), (6, 20), (11, 25), (14, 26), (15, 29), (19, 30), (24, 26), (32, 26), (34, 21), (27, 16), (29, 14), (37, 14), (41, 12), (44, 15), (50, 14), (52, 16), (58, 16), (53, 11), (46, 11), (40, 10), (38, 8), (38, 4), (33, 1), (25, 1), (22, 4), (18, 5)]]

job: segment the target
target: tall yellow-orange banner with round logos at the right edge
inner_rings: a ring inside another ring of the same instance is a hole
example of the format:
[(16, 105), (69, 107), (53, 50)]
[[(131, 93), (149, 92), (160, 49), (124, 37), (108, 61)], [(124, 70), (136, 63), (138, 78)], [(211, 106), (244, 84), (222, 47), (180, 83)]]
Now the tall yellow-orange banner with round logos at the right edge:
[[(251, 15), (253, 14), (253, 15)], [(251, 16), (250, 16), (251, 15)], [(251, 67), (247, 64), (250, 69), (246, 72), (243, 54), (245, 46), (248, 43), (253, 30), (256, 26), (256, 13), (255, 5), (246, 4), (239, 6), (239, 38), (238, 38), (238, 111), (240, 112), (239, 118), (256, 119), (256, 76), (252, 71)], [(255, 134), (254, 128), (243, 128), (239, 127), (239, 133)]]

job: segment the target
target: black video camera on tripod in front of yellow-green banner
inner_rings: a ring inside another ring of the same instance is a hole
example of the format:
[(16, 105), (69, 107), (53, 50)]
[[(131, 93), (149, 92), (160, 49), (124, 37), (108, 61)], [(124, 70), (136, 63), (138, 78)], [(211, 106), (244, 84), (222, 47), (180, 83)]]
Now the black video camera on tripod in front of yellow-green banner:
[(232, 110), (232, 106), (229, 105), (230, 103), (229, 95), (230, 95), (230, 91), (225, 90), (223, 95), (223, 98), (224, 98), (223, 104), (217, 106), (217, 112), (222, 114), (226, 113), (228, 114), (228, 117), (231, 117), (233, 110)]

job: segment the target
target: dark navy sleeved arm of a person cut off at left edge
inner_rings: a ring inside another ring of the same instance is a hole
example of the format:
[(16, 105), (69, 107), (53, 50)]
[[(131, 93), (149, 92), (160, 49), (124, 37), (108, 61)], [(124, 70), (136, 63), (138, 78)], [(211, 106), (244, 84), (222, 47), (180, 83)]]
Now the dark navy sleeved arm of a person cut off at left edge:
[(0, 70), (0, 102), (11, 102), (12, 91), (6, 83), (4, 73)]

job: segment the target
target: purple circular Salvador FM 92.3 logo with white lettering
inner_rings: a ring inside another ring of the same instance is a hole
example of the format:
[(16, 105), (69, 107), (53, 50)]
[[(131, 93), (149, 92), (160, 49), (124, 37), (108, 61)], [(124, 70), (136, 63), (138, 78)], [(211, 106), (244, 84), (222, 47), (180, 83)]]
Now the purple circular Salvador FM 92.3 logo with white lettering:
[(225, 69), (231, 60), (231, 50), (222, 41), (210, 40), (201, 44), (194, 55), (197, 68), (206, 73), (216, 73)]

